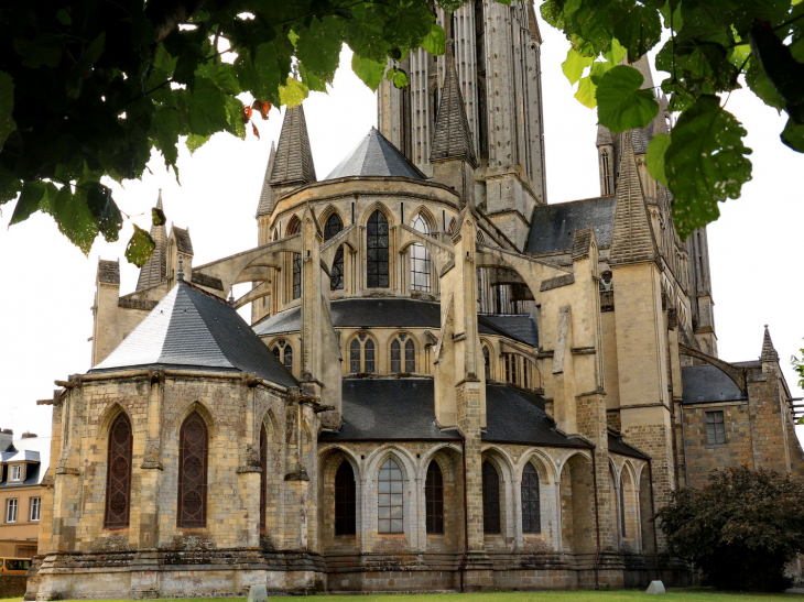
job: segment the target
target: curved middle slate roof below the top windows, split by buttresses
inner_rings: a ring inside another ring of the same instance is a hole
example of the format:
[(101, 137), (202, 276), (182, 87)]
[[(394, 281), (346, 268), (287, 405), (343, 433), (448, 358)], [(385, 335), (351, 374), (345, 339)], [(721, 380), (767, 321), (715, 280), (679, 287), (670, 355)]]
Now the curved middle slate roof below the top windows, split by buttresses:
[[(414, 299), (361, 298), (332, 303), (335, 328), (441, 328), (441, 306)], [(539, 347), (536, 324), (529, 315), (484, 314), (478, 316), (481, 335), (497, 335)], [(294, 307), (275, 314), (254, 326), (259, 337), (295, 332), (302, 329), (302, 310)]]

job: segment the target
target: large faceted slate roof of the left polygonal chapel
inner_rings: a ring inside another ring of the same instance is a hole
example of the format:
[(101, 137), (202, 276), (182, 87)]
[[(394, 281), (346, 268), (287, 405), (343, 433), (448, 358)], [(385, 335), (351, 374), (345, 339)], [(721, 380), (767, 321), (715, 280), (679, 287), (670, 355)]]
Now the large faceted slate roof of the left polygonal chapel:
[(183, 281), (89, 372), (146, 366), (253, 372), (298, 386), (235, 308)]

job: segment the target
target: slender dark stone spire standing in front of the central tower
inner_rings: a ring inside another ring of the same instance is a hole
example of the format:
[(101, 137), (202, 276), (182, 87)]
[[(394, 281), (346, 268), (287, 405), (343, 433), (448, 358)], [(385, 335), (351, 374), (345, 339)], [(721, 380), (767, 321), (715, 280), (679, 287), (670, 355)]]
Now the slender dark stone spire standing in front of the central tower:
[(447, 40), (444, 63), (446, 67), (444, 88), (438, 102), (438, 114), (435, 120), (433, 150), (430, 153), (430, 161), (463, 158), (477, 168), (478, 163), (475, 146), (471, 142), (469, 120), (466, 118), (464, 97), (460, 94), (460, 83), (455, 69), (452, 40)]

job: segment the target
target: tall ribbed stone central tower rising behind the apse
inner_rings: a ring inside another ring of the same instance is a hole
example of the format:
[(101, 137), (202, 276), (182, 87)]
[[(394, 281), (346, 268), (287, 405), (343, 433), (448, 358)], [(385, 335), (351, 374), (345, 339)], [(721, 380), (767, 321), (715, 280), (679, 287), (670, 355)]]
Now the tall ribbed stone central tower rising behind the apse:
[[(515, 4), (515, 6), (514, 6)], [(453, 40), (455, 66), (479, 167), (475, 204), (519, 248), (535, 205), (546, 203), (539, 33), (532, 2), (474, 0), (454, 13), (436, 9)], [(446, 55), (411, 52), (400, 64), (410, 85), (383, 81), (379, 128), (427, 175), (446, 76)]]

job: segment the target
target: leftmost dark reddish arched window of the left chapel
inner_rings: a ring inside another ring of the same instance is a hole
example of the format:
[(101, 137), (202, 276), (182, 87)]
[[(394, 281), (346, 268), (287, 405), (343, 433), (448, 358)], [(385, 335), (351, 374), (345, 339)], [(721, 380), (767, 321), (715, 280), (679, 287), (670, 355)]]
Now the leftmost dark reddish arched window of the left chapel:
[(129, 417), (121, 413), (109, 429), (104, 521), (104, 528), (107, 529), (124, 529), (129, 526), (132, 439)]

